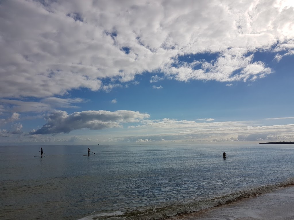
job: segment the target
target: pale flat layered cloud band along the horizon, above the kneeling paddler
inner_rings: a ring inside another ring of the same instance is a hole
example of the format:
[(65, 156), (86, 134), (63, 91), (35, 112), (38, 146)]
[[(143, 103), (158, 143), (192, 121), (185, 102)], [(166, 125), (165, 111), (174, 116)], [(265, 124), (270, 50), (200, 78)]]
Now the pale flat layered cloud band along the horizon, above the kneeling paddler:
[(294, 136), (294, 124), (254, 126), (257, 121), (195, 122), (175, 119), (143, 120), (139, 129), (144, 135), (124, 136), (125, 140), (153, 140), (154, 142), (215, 142), (215, 141), (260, 141), (272, 137)]

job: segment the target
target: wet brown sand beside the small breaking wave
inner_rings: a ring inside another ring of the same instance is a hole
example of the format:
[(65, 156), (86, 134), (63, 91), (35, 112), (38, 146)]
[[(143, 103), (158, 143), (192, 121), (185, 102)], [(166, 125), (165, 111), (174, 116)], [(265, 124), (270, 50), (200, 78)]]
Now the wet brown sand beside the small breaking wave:
[(185, 220), (294, 220), (294, 186), (182, 216)]

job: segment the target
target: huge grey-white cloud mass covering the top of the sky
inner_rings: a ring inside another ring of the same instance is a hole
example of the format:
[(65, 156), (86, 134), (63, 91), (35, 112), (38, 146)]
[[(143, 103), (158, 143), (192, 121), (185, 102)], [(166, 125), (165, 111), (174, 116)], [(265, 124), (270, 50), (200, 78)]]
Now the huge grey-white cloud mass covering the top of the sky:
[[(256, 52), (294, 51), (293, 1), (10, 0), (0, 14), (2, 97), (109, 91), (145, 72), (254, 81), (272, 72)], [(193, 54), (216, 58), (182, 62)]]

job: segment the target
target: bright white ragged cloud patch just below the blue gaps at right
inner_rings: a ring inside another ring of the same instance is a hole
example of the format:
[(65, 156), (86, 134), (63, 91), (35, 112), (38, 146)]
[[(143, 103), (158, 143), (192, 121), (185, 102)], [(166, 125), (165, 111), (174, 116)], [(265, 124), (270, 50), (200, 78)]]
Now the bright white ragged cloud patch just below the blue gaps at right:
[[(265, 64), (258, 61), (253, 62), (253, 55), (246, 56), (248, 50), (234, 48), (224, 50), (222, 56), (215, 62), (202, 62), (200, 69), (195, 66), (200, 62), (186, 63), (178, 67), (166, 69), (169, 75), (174, 76), (179, 81), (197, 80), (216, 80), (219, 82), (244, 81), (263, 78), (271, 73), (271, 69), (265, 67)], [(239, 71), (238, 74), (234, 74)]]

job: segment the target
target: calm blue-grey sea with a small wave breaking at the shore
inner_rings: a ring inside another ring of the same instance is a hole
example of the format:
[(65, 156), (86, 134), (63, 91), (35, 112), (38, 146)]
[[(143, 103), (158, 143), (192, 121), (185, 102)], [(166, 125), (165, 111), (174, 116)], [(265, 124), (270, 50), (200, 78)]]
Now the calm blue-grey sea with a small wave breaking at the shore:
[[(41, 147), (45, 156), (34, 157)], [(0, 154), (0, 219), (185, 219), (294, 185), (294, 145), (0, 146)]]

